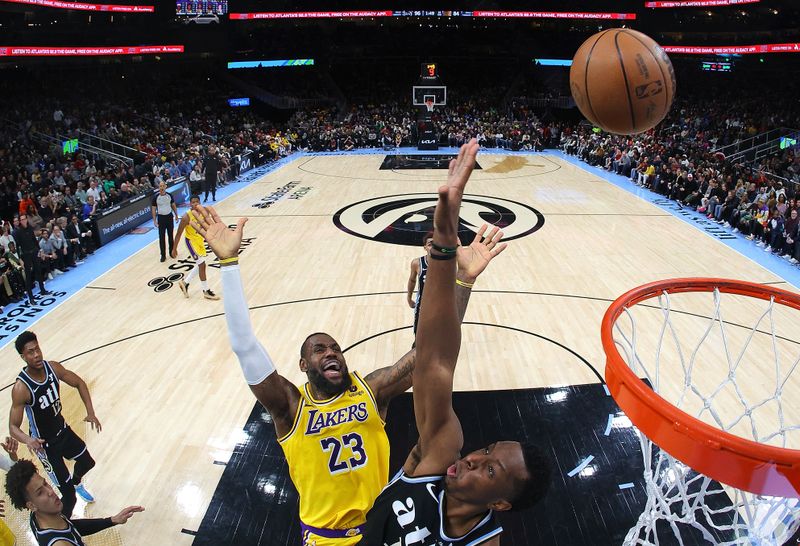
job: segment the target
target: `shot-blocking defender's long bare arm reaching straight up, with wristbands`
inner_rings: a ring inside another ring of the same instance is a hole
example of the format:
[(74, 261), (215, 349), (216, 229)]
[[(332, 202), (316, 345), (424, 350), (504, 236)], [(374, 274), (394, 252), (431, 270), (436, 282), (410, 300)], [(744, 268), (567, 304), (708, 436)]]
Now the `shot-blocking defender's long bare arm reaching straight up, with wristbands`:
[[(439, 188), (434, 213), (433, 249), (425, 279), (417, 330), (414, 414), (419, 430), (420, 462), (415, 475), (441, 474), (459, 457), (464, 443), (461, 423), (453, 411), (453, 376), (461, 346), (456, 308), (456, 264), (461, 198), (475, 166), (475, 139), (450, 162), (447, 184)], [(491, 243), (490, 243), (491, 244)], [(505, 245), (491, 245), (497, 255)]]

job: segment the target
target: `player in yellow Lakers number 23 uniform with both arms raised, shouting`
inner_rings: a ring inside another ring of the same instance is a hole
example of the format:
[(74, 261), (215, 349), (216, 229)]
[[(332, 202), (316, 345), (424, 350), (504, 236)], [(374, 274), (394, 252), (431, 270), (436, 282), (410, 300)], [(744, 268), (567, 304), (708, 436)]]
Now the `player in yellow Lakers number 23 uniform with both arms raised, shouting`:
[[(311, 334), (300, 347), (300, 369), (308, 383), (298, 389), (276, 373), (250, 324), (237, 257), (246, 219), (230, 230), (212, 207), (198, 205), (194, 211), (199, 219), (195, 229), (222, 265), (231, 347), (250, 389), (272, 416), (300, 494), (303, 544), (355, 544), (367, 511), (388, 482), (383, 419), (392, 397), (411, 386), (416, 352), (412, 349), (394, 365), (361, 377), (349, 371), (335, 339)], [(480, 237), (459, 250), (461, 317), (472, 283), (491, 258)]]

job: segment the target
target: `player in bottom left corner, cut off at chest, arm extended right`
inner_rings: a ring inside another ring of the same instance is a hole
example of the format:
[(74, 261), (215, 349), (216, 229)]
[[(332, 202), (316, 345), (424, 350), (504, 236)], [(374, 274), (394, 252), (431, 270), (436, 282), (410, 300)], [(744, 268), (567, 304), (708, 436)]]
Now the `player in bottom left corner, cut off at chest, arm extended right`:
[(84, 536), (122, 525), (136, 512), (144, 511), (141, 506), (128, 506), (110, 518), (70, 520), (64, 517), (63, 504), (53, 488), (25, 459), (8, 471), (6, 493), (18, 510), (31, 511), (31, 531), (40, 546), (83, 546)]

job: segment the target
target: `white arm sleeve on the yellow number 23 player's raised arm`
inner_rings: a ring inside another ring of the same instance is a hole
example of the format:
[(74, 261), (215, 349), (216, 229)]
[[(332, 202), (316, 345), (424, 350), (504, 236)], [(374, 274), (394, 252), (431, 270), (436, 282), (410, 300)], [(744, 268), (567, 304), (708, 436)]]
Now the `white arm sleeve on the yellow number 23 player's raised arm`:
[(222, 268), (222, 294), (231, 348), (239, 359), (245, 381), (248, 385), (258, 385), (275, 371), (275, 365), (253, 333), (238, 265)]

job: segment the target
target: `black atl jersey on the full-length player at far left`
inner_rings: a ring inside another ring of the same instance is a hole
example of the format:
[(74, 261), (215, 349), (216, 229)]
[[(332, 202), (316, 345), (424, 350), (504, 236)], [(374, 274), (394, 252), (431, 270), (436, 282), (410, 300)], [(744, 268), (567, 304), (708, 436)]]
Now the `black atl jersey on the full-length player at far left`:
[(31, 403), (25, 405), (25, 414), (30, 424), (30, 435), (34, 438), (52, 440), (64, 429), (61, 415), (61, 388), (56, 372), (45, 360), (45, 378), (42, 383), (34, 381), (25, 370), (17, 379), (25, 383), (31, 392)]

